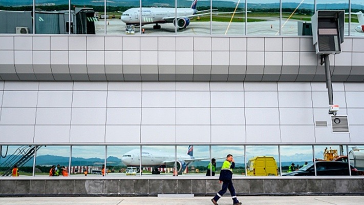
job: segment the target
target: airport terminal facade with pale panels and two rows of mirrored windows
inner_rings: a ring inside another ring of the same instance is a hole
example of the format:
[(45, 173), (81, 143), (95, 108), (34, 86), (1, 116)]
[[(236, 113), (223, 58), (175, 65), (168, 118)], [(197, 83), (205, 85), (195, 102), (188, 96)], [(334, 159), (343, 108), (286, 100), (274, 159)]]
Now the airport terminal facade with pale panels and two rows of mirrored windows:
[[(215, 195), (227, 154), (239, 195), (364, 194), (360, 2), (196, 2), (0, 0), (0, 196)], [(329, 77), (320, 9), (346, 13)]]

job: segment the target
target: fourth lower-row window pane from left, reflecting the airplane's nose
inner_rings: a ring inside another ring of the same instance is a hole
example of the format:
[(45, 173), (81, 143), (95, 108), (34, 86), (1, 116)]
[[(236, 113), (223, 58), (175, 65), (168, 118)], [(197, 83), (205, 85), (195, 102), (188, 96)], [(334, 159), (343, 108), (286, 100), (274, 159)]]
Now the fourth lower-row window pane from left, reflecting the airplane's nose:
[(108, 176), (139, 175), (140, 146), (108, 146)]

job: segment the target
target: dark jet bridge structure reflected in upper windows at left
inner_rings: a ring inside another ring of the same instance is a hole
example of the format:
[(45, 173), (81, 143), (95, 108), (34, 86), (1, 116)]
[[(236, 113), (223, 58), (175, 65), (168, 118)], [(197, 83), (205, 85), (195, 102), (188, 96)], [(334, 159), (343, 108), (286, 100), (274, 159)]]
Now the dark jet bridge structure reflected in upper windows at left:
[[(95, 34), (94, 10), (75, 8), (71, 11), (71, 33)], [(0, 33), (33, 33), (32, 11), (0, 11)], [(69, 33), (69, 11), (35, 11), (36, 34)]]

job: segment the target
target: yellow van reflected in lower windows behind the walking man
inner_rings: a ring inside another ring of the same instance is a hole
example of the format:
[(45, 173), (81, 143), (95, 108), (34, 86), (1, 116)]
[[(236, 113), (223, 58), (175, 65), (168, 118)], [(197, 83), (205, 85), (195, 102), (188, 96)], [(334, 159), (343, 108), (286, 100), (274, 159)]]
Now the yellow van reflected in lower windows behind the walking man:
[(274, 157), (256, 156), (247, 163), (247, 176), (277, 176), (278, 168)]

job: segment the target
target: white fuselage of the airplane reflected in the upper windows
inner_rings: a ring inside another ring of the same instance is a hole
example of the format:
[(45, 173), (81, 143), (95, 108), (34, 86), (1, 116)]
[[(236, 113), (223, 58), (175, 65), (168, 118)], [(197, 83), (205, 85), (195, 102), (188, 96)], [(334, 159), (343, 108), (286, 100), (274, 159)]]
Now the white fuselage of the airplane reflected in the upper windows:
[[(127, 25), (140, 25), (141, 24), (163, 24), (172, 23), (175, 12), (177, 11), (177, 18), (193, 15), (196, 11), (191, 8), (141, 8), (142, 15), (140, 19), (140, 8), (131, 8), (123, 12), (121, 20)], [(172, 20), (171, 20), (172, 19)]]

